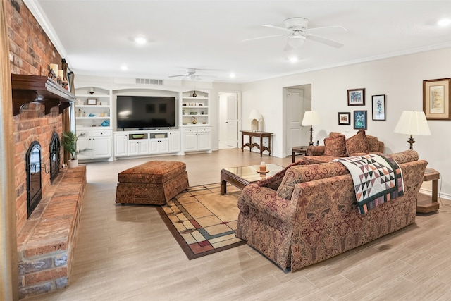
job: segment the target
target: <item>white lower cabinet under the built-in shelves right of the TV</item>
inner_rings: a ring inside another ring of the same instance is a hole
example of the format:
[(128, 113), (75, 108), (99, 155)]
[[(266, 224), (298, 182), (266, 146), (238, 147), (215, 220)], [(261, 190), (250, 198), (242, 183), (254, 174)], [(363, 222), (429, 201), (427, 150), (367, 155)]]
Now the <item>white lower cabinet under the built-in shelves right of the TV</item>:
[(211, 127), (183, 128), (183, 150), (185, 152), (200, 152), (211, 149)]

